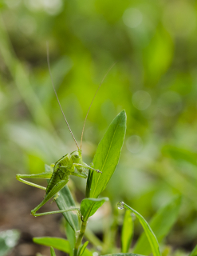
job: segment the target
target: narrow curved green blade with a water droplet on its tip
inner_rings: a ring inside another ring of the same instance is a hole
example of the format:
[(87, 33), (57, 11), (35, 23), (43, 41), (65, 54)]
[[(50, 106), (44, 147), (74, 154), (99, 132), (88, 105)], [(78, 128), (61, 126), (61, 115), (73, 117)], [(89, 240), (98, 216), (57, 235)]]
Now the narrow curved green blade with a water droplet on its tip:
[(136, 214), (136, 217), (139, 219), (141, 225), (143, 226), (144, 232), (148, 238), (148, 242), (150, 243), (150, 246), (152, 248), (152, 254), (154, 256), (160, 256), (161, 254), (159, 243), (156, 239), (156, 235), (153, 233), (151, 227), (148, 225), (148, 222), (142, 217), (141, 214), (139, 214), (136, 210), (132, 209), (132, 207), (128, 206), (124, 202), (120, 202), (118, 206), (119, 209), (123, 209), (125, 207), (126, 209), (131, 210), (134, 214)]

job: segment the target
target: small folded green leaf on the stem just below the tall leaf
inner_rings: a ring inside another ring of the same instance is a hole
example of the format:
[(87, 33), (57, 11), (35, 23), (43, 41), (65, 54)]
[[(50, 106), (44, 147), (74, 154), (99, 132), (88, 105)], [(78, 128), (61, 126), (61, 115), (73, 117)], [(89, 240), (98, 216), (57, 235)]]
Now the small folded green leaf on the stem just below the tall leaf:
[(83, 221), (86, 222), (106, 201), (108, 201), (108, 198), (85, 198), (82, 200), (81, 215), (83, 216)]

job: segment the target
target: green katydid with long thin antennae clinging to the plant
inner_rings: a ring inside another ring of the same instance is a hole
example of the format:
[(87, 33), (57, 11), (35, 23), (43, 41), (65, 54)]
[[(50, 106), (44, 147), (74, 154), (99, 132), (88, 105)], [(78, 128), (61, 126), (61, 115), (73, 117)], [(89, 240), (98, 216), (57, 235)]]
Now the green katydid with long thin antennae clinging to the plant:
[[(53, 84), (53, 78), (52, 78), (52, 74), (51, 74), (51, 70), (50, 70), (48, 47), (47, 47), (47, 62), (48, 62), (51, 82), (52, 82), (52, 85), (53, 85), (53, 90), (55, 92), (57, 102), (58, 102), (58, 104), (61, 108), (61, 103), (60, 103), (59, 98), (57, 96), (57, 91), (55, 90), (55, 86)], [(109, 70), (112, 69), (112, 66)], [(109, 72), (109, 70), (108, 70), (108, 72)], [(107, 72), (107, 74), (108, 74), (108, 72)], [(106, 77), (107, 74), (104, 75), (104, 78)], [(103, 78), (102, 82), (100, 82), (100, 86), (103, 83), (104, 78)], [(100, 86), (98, 86), (97, 92), (98, 92)], [(93, 100), (96, 97), (97, 92), (96, 92), (96, 94), (94, 94)], [(89, 110), (90, 110), (90, 107), (93, 104), (93, 100), (92, 100), (92, 102), (89, 106)], [(86, 119), (88, 117), (89, 110), (86, 114), (85, 122), (86, 122)], [(63, 116), (65, 118), (65, 114), (64, 114), (62, 108), (61, 108), (61, 113), (63, 114)], [(67, 122), (66, 118), (65, 118), (65, 122), (66, 122), (67, 126), (69, 127), (69, 123)], [(69, 132), (72, 135), (72, 137), (74, 139), (74, 142), (77, 145), (78, 150), (73, 151), (71, 154), (65, 154), (65, 156), (60, 158), (57, 162), (55, 162), (55, 164), (50, 165), (51, 170), (49, 172), (43, 172), (41, 174), (17, 174), (16, 175), (16, 178), (18, 179), (19, 182), (23, 182), (27, 185), (35, 186), (35, 187), (37, 187), (41, 190), (45, 190), (45, 198), (42, 200), (42, 202), (38, 206), (36, 206), (33, 210), (31, 210), (31, 214), (33, 216), (37, 217), (37, 216), (47, 215), (47, 214), (62, 213), (62, 212), (68, 211), (68, 210), (78, 210), (77, 208), (76, 209), (75, 208), (70, 208), (70, 209), (67, 209), (67, 210), (56, 210), (56, 211), (52, 211), (52, 212), (45, 212), (45, 213), (41, 213), (41, 214), (36, 214), (37, 210), (39, 210), (41, 208), (41, 206), (43, 206), (46, 202), (48, 202), (49, 199), (51, 199), (53, 197), (54, 197), (54, 199), (56, 199), (58, 197), (58, 191), (60, 191), (66, 185), (66, 183), (69, 182), (69, 175), (75, 175), (75, 176), (78, 176), (78, 177), (81, 177), (81, 178), (88, 178), (88, 170), (95, 170), (98, 173), (102, 173), (100, 170), (94, 169), (93, 166), (87, 165), (82, 160), (81, 146), (82, 146), (82, 138), (83, 138), (84, 129), (85, 129), (85, 122), (84, 122), (84, 126), (83, 126), (82, 133), (81, 133), (80, 147), (78, 146), (77, 140), (74, 138), (73, 132), (69, 127)], [(44, 186), (39, 186), (39, 185), (37, 185), (33, 182), (28, 182), (28, 181), (24, 180), (23, 178), (45, 178), (45, 179), (49, 179), (49, 183), (48, 183), (47, 187), (44, 187)]]

